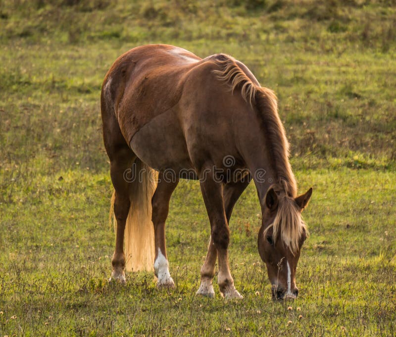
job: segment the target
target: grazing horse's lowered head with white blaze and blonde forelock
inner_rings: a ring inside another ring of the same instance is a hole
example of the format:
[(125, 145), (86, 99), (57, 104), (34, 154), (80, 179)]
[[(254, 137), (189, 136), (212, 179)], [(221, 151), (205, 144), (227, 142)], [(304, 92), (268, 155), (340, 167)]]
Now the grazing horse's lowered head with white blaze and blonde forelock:
[(284, 191), (270, 188), (265, 196), (258, 251), (267, 266), (273, 299), (297, 297), (297, 262), (308, 235), (301, 211), (308, 204), (311, 194), (312, 188), (292, 198)]

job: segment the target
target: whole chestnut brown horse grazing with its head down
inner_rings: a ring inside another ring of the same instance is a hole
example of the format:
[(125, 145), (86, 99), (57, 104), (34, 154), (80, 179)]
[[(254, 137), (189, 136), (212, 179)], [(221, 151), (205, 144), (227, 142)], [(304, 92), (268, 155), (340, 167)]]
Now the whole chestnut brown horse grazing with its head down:
[(211, 227), (198, 294), (214, 295), (218, 259), (221, 293), (241, 298), (228, 263), (228, 223), (253, 179), (262, 211), (258, 251), (273, 298), (295, 298), (297, 261), (308, 234), (301, 211), (312, 189), (297, 197), (273, 91), (261, 87), (231, 56), (201, 59), (178, 47), (148, 45), (118, 57), (104, 78), (100, 99), (115, 189), (112, 278), (125, 282), (125, 267), (153, 266), (158, 286), (174, 286), (165, 220), (179, 178), (194, 178)]

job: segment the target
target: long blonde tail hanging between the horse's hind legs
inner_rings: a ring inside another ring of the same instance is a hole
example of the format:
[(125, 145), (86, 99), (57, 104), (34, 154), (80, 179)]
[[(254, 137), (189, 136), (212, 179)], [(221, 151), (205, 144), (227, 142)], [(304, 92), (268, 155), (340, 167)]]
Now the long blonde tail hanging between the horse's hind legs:
[[(125, 269), (128, 272), (152, 271), (155, 252), (151, 198), (156, 187), (156, 173), (137, 158), (130, 177), (133, 178), (130, 182), (131, 206), (125, 225)], [(114, 214), (114, 193), (111, 198), (110, 222)], [(116, 231), (115, 219), (113, 221)]]

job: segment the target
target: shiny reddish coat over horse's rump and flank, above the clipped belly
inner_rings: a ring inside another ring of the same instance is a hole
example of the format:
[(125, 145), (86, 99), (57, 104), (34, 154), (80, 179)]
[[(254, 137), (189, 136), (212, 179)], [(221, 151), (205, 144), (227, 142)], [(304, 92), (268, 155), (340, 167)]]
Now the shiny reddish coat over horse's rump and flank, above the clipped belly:
[(201, 62), (182, 48), (166, 45), (138, 47), (114, 62), (104, 94), (114, 104), (128, 143), (142, 126), (178, 103), (189, 70)]

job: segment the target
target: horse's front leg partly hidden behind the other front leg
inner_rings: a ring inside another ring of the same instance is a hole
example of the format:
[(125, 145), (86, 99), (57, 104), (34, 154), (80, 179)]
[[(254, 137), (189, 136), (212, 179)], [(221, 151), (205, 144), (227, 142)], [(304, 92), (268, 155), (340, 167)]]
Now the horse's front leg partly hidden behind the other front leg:
[[(224, 198), (224, 208), (227, 218), (227, 223), (230, 222), (232, 210), (234, 209), (235, 203), (246, 189), (250, 182), (251, 177), (245, 176), (242, 180), (237, 182), (229, 182), (224, 186), (223, 198)], [(197, 294), (214, 297), (213, 289), (213, 277), (214, 277), (214, 267), (217, 259), (216, 246), (210, 235), (209, 246), (207, 249), (207, 254), (205, 262), (201, 268), (201, 282), (197, 291)]]

